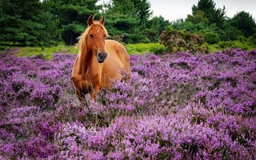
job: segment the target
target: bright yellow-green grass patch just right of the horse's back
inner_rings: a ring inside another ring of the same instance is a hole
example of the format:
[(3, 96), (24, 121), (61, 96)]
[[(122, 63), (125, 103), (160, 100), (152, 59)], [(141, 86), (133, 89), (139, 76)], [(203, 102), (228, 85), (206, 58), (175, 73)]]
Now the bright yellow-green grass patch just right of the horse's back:
[(166, 47), (159, 43), (137, 43), (126, 45), (129, 54), (145, 54), (147, 52), (154, 54), (162, 54)]

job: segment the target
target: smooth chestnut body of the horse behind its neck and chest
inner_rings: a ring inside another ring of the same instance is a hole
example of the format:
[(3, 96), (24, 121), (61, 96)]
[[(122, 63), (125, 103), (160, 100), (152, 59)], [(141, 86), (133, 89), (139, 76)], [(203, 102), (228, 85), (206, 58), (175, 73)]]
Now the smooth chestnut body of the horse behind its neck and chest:
[(130, 73), (130, 56), (126, 48), (120, 42), (114, 40), (105, 41), (105, 50), (108, 53), (102, 68), (102, 86), (110, 86), (111, 80), (122, 79), (122, 70)]

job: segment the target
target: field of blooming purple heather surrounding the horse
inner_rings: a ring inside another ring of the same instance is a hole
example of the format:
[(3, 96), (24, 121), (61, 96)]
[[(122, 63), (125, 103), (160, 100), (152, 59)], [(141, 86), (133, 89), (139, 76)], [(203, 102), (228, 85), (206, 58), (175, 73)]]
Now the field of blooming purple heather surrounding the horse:
[(256, 50), (131, 55), (82, 104), (76, 55), (0, 54), (0, 159), (255, 159)]

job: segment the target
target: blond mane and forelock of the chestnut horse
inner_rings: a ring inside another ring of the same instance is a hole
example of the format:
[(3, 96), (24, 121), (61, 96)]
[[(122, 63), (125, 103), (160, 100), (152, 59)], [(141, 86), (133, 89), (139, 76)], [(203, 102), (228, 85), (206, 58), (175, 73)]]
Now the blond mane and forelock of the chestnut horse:
[(86, 38), (89, 34), (89, 31), (91, 29), (92, 26), (98, 26), (100, 27), (106, 34), (106, 36), (108, 36), (107, 34), (107, 30), (105, 28), (105, 26), (102, 25), (101, 22), (98, 21), (94, 21), (92, 25), (88, 26), (86, 28), (86, 30), (82, 33), (82, 35), (80, 37), (78, 37), (78, 49), (79, 49), (79, 73), (83, 74), (86, 70), (86, 66), (85, 66), (85, 62), (86, 62), (86, 58), (89, 55), (86, 55), (87, 53), (87, 43), (86, 43)]

